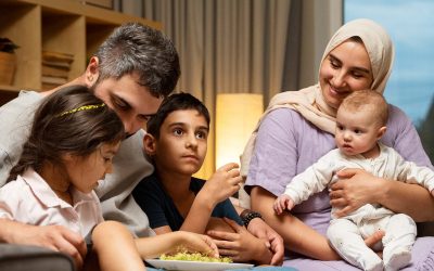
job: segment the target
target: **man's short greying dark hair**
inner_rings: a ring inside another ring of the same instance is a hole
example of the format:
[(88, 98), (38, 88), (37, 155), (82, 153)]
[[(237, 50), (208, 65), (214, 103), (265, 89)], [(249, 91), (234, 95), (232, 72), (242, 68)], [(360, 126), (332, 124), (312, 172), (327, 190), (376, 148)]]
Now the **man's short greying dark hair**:
[(94, 56), (99, 60), (98, 81), (138, 73), (138, 83), (149, 88), (156, 98), (170, 94), (181, 73), (170, 39), (139, 23), (117, 27)]

